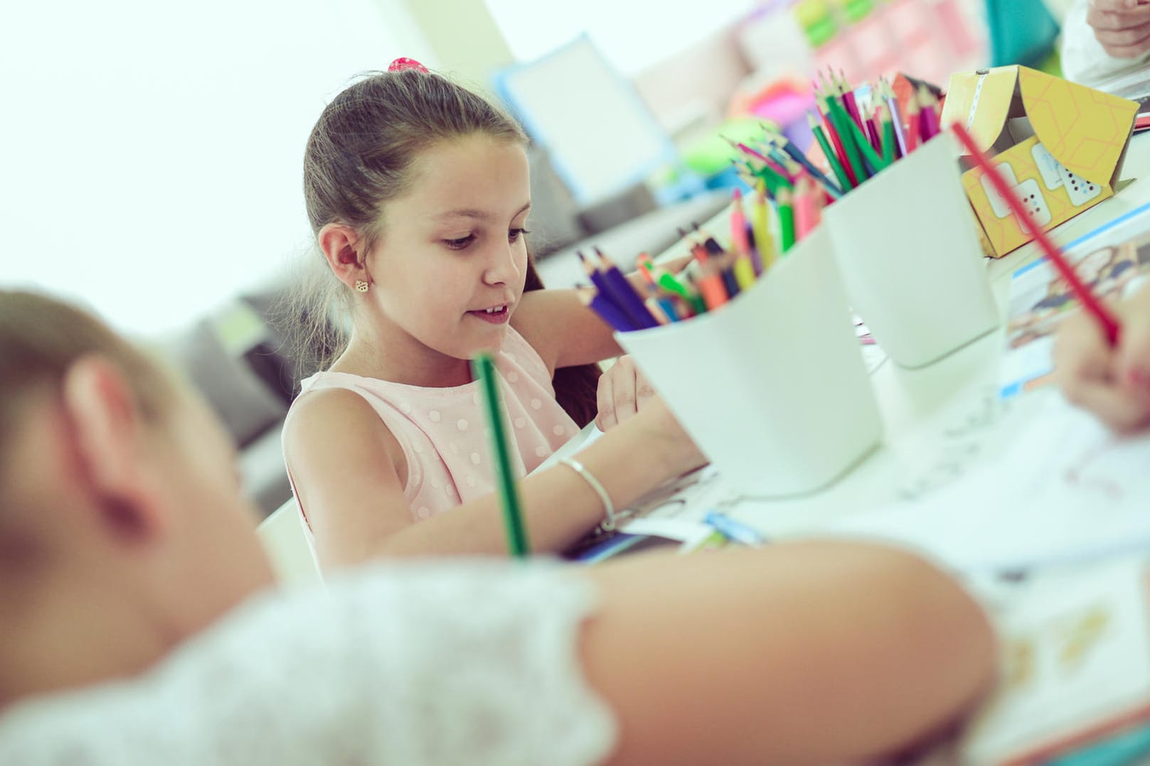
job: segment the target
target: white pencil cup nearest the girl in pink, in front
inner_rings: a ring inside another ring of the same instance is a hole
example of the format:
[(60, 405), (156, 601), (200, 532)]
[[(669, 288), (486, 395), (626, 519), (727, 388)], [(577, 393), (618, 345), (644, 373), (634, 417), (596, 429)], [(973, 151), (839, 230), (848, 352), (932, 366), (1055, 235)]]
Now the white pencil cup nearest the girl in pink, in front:
[(882, 436), (822, 226), (718, 310), (615, 338), (742, 494), (820, 489)]

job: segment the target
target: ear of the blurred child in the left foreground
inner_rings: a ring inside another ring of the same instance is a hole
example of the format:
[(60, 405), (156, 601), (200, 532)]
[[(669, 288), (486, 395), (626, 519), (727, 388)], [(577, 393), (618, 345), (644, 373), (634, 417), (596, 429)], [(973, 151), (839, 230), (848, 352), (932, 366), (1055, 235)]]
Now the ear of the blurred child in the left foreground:
[(141, 463), (145, 424), (123, 374), (102, 357), (82, 357), (64, 374), (63, 400), (106, 528), (133, 542), (153, 536), (163, 524)]

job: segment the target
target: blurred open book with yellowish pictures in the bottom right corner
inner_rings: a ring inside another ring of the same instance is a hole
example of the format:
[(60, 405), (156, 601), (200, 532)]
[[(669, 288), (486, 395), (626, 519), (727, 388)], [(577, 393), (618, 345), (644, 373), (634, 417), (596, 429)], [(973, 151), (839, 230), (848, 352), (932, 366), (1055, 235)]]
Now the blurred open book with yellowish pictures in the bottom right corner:
[[(1150, 720), (1150, 567), (1124, 558), (1003, 586), (1003, 676), (963, 752), (980, 765), (1097, 764), (1089, 749)], [(1144, 751), (1140, 751), (1144, 755)], [(1061, 760), (1057, 763), (1064, 763)], [(1135, 760), (1104, 763), (1144, 763)]]

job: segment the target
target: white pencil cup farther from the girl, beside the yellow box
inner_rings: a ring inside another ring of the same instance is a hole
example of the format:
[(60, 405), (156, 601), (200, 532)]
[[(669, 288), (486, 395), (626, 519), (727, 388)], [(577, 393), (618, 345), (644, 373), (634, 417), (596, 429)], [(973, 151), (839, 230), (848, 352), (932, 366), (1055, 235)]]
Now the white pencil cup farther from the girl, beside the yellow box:
[(949, 132), (822, 217), (851, 308), (899, 366), (928, 365), (998, 326)]

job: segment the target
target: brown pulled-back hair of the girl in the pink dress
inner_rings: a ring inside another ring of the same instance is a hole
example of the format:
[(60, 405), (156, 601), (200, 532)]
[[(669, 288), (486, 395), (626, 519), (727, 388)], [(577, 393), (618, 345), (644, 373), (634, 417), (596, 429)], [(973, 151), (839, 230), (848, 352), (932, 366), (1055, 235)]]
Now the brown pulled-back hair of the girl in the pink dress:
[[(304, 199), (312, 230), (329, 223), (352, 226), (365, 250), (378, 241), (383, 204), (407, 191), (411, 165), (438, 141), (485, 134), (527, 144), (523, 129), (505, 111), (439, 75), (406, 69), (377, 72), (344, 90), (312, 129), (304, 153)], [(332, 305), (350, 316), (351, 292), (327, 273), (301, 285), (293, 314), (305, 323), (301, 348), (319, 349), (310, 362), (327, 366), (346, 346), (344, 323), (331, 320)], [(322, 279), (322, 285), (320, 283)], [(524, 289), (543, 283), (528, 258)], [(302, 300), (299, 300), (302, 299)], [(599, 367), (557, 370), (555, 399), (581, 426), (596, 416)]]

